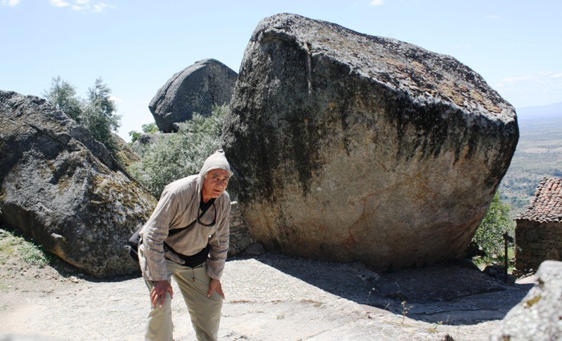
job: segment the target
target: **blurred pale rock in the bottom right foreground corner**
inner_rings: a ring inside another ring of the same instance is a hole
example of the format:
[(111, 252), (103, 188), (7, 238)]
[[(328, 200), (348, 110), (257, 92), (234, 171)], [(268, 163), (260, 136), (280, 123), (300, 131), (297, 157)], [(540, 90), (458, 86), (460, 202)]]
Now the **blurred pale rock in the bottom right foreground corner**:
[(502, 320), (490, 340), (562, 340), (562, 262), (542, 262), (535, 286)]

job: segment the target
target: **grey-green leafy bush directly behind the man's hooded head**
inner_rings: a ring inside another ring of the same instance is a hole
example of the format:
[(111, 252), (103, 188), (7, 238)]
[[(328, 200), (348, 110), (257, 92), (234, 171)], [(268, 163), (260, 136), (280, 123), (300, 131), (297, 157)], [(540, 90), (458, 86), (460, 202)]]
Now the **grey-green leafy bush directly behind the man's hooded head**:
[(216, 106), (211, 116), (193, 113), (192, 119), (178, 124), (178, 133), (166, 134), (145, 147), (143, 159), (129, 167), (129, 173), (152, 195), (159, 197), (170, 182), (198, 174), (220, 140), (228, 106)]

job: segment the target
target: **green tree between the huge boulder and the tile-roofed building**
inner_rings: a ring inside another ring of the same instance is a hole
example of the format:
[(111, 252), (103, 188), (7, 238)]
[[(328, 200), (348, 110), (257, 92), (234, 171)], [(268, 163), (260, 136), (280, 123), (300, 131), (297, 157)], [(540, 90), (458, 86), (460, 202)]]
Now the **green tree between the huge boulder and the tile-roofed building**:
[(473, 237), (473, 241), (486, 253), (497, 253), (504, 245), (503, 234), (514, 232), (514, 222), (509, 218), (509, 211), (509, 205), (502, 203), (499, 193), (496, 192), (488, 212)]

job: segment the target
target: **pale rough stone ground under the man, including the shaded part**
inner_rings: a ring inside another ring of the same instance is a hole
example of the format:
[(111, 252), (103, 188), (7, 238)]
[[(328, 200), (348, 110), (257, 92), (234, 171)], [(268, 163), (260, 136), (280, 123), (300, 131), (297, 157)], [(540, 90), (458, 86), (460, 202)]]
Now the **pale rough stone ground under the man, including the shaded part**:
[[(98, 281), (18, 260), (0, 274), (0, 341), (143, 339), (149, 303), (139, 277)], [(374, 274), (275, 253), (233, 258), (219, 340), (488, 340), (531, 286), (458, 264)], [(174, 288), (174, 339), (195, 340)]]

